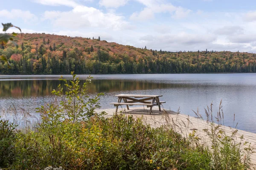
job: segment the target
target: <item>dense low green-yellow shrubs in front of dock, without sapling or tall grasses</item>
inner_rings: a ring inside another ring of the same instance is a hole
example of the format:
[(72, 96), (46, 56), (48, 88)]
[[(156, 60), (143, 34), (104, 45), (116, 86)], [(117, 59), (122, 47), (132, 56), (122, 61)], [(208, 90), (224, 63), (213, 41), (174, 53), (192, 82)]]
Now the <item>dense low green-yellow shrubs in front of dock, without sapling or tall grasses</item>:
[(39, 127), (17, 136), (15, 169), (207, 169), (211, 159), (173, 130), (125, 115), (64, 121), (55, 131)]

